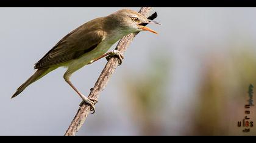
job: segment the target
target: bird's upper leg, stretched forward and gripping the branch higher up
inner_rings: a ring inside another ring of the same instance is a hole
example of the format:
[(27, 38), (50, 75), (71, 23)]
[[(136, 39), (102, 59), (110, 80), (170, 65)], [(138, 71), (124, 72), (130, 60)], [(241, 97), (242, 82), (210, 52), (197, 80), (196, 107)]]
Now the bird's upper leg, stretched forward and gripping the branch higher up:
[(118, 50), (113, 50), (113, 51), (107, 52), (104, 55), (99, 56), (98, 58), (91, 60), (88, 64), (92, 64), (93, 62), (96, 62), (99, 59), (104, 58), (104, 57), (106, 57), (106, 59), (108, 61), (110, 58), (112, 58), (112, 56), (118, 56), (118, 59), (119, 59), (119, 64), (118, 65), (122, 64), (123, 59), (124, 59), (124, 55), (123, 55), (123, 53), (119, 52)]

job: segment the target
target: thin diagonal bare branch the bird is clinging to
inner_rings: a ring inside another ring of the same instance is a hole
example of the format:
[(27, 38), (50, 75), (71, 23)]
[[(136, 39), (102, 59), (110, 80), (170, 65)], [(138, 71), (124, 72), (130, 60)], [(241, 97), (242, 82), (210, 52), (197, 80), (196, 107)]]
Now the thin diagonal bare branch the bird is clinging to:
[[(149, 12), (151, 11), (151, 7), (142, 7), (139, 11), (141, 15), (148, 16)], [(152, 16), (153, 19), (155, 16)], [(133, 38), (138, 33), (132, 33), (130, 35), (124, 36), (116, 46), (116, 50), (119, 50), (119, 52), (124, 53), (130, 42), (132, 42)], [(110, 79), (110, 76), (114, 73), (116, 67), (118, 67), (119, 59), (116, 57), (110, 58), (107, 64), (105, 65), (104, 69), (101, 72), (101, 75), (99, 76), (97, 82), (95, 83), (94, 87), (91, 88), (89, 98), (92, 99), (98, 99), (99, 93), (104, 90), (105, 86), (107, 85), (107, 82)], [(73, 121), (68, 127), (68, 130), (66, 130), (65, 136), (74, 136), (76, 132), (80, 129), (80, 127), (84, 124), (85, 119), (87, 119), (87, 116), (90, 113), (90, 105), (87, 104), (80, 104), (80, 107), (76, 113), (76, 116), (74, 117)]]

